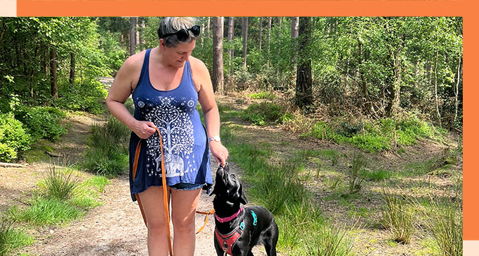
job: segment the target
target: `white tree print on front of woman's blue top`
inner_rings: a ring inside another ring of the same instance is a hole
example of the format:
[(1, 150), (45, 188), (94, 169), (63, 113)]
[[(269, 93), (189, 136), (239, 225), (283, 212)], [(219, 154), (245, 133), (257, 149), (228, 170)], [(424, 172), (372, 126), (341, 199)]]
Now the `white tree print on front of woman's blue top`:
[[(194, 130), (189, 116), (194, 110), (193, 99), (158, 97), (158, 104), (138, 102), (146, 120), (155, 123), (163, 138), (166, 177), (183, 176), (194, 169)], [(148, 100), (148, 99), (147, 99)], [(186, 161), (186, 163), (185, 163)], [(147, 139), (147, 172), (161, 176), (161, 153), (158, 134)]]

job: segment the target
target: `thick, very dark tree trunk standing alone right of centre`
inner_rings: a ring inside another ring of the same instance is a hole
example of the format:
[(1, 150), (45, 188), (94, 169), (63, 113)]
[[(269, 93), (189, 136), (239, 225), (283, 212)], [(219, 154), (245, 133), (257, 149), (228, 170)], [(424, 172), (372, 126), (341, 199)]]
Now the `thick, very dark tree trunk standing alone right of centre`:
[(299, 18), (299, 52), (296, 78), (295, 101), (297, 106), (305, 109), (313, 103), (313, 82), (311, 78), (311, 54), (307, 52), (311, 36), (309, 17)]

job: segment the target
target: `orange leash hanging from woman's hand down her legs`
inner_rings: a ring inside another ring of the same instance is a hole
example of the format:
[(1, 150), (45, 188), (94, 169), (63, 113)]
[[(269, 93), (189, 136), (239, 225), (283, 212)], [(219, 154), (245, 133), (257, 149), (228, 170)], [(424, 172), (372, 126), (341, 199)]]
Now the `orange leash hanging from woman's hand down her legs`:
[[(165, 221), (166, 221), (166, 233), (168, 233), (168, 248), (170, 250), (170, 255), (173, 256), (173, 245), (171, 243), (171, 233), (170, 233), (170, 207), (168, 206), (168, 194), (167, 194), (167, 185), (166, 185), (166, 174), (165, 174), (165, 161), (163, 159), (163, 140), (161, 138), (161, 133), (158, 128), (155, 128), (158, 132), (158, 136), (160, 138), (160, 150), (161, 150), (161, 181), (163, 184), (163, 208), (165, 209)], [(133, 181), (135, 181), (135, 176), (137, 173), (137, 166), (138, 166), (138, 158), (139, 158), (139, 151), (142, 145), (142, 139), (139, 140), (137, 145), (137, 150), (135, 151), (135, 161), (133, 162)], [(139, 200), (139, 195), (135, 194), (135, 197), (138, 201), (139, 210), (142, 212), (142, 217), (144, 224), (148, 227), (147, 217), (144, 215), (142, 202)]]

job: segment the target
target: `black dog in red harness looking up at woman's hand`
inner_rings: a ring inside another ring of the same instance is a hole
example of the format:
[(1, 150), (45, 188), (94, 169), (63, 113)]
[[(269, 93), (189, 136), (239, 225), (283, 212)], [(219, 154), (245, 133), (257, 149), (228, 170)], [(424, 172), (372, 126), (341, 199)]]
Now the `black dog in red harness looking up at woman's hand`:
[(228, 164), (216, 171), (215, 194), (215, 248), (216, 254), (251, 256), (254, 245), (263, 243), (268, 256), (276, 255), (278, 225), (273, 214), (261, 206), (244, 208), (247, 204), (242, 185), (235, 174), (231, 174)]

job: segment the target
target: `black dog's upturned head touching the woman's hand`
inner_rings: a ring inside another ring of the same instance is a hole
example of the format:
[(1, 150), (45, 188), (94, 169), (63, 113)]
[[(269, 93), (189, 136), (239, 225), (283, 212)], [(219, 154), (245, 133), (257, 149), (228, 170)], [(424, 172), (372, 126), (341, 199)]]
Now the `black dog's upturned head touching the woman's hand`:
[(215, 186), (210, 195), (216, 195), (215, 198), (229, 202), (232, 205), (248, 203), (246, 196), (243, 194), (243, 188), (239, 183), (235, 174), (230, 173), (230, 166), (228, 163), (225, 166), (220, 165), (216, 171)]

